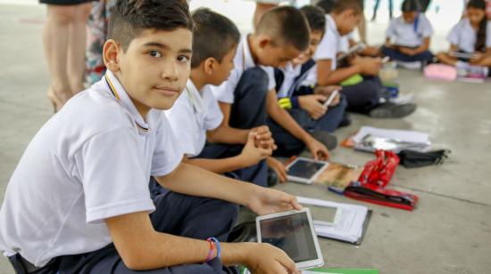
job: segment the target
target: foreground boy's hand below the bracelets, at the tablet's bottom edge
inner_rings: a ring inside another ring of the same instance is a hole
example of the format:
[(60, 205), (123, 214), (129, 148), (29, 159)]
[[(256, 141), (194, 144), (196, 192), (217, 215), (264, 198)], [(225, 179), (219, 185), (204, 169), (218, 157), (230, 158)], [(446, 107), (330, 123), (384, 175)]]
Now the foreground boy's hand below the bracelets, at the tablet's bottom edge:
[(251, 273), (300, 273), (295, 262), (281, 249), (270, 244), (247, 243), (245, 266)]

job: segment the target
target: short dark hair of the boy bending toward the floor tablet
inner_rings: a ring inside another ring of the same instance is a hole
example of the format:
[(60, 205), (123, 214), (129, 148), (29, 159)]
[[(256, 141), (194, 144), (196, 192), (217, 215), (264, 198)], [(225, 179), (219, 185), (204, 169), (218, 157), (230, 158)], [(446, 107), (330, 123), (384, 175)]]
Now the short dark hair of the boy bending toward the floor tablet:
[(310, 44), (310, 28), (304, 14), (291, 6), (279, 6), (264, 12), (256, 34), (266, 34), (279, 44), (292, 44), (304, 52)]

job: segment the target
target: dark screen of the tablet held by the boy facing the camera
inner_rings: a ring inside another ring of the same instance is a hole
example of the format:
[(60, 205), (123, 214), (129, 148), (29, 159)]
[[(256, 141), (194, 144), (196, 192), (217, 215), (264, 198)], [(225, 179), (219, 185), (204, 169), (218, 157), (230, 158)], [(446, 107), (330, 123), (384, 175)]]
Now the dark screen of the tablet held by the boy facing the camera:
[(307, 213), (262, 220), (260, 228), (262, 243), (279, 247), (294, 262), (318, 259)]

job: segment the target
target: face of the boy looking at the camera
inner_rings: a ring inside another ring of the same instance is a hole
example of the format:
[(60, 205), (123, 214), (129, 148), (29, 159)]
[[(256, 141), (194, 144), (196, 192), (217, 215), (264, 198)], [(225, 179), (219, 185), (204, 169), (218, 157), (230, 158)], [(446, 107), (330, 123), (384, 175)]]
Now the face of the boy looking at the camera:
[(193, 35), (186, 28), (145, 29), (126, 52), (121, 44), (104, 44), (104, 63), (142, 113), (171, 109), (187, 83)]

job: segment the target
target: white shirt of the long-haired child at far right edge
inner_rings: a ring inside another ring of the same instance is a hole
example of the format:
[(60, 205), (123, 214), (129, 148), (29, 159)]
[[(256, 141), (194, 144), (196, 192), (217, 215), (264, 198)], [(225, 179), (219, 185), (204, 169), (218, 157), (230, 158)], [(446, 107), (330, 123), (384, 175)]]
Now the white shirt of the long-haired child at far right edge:
[[(461, 51), (475, 52), (478, 31), (472, 28), (468, 18), (464, 18), (452, 28), (447, 40), (450, 44), (457, 45)], [(486, 28), (486, 47), (491, 47), (491, 21), (489, 20)]]

